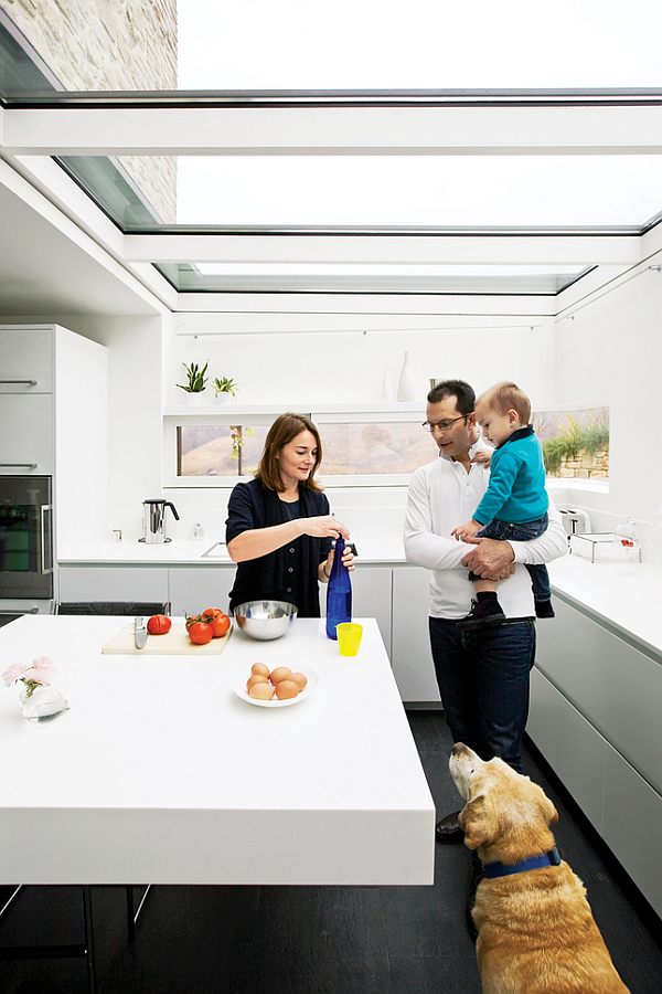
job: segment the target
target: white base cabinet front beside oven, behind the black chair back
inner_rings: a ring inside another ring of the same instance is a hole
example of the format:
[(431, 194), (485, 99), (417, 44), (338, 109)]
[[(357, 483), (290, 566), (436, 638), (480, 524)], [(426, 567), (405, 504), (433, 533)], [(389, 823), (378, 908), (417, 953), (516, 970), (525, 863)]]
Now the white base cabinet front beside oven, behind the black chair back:
[(168, 570), (158, 567), (64, 567), (61, 602), (169, 600)]

